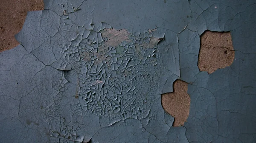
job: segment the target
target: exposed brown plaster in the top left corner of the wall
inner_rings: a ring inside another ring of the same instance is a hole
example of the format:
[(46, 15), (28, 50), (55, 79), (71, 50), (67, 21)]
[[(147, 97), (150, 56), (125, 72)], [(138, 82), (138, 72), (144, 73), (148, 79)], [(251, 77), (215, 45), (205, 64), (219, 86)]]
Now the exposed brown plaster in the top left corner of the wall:
[(44, 0), (1, 0), (0, 52), (19, 45), (14, 36), (22, 29), (27, 11), (43, 9)]

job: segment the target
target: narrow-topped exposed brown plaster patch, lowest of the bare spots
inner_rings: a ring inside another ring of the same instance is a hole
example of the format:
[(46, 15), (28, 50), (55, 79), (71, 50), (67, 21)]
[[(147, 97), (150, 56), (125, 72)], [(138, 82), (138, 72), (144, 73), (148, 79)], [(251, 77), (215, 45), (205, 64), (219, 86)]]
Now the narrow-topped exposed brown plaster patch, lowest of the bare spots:
[(175, 119), (172, 126), (183, 126), (189, 117), (190, 97), (188, 84), (181, 80), (173, 83), (173, 92), (162, 94), (163, 109)]

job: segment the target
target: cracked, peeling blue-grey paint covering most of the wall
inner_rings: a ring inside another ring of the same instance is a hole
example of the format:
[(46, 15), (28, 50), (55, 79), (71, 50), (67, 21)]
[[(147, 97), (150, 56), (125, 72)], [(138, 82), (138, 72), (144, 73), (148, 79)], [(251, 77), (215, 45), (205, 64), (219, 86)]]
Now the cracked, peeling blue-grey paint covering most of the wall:
[[(44, 3), (0, 53), (1, 141), (256, 141), (253, 0)], [(197, 65), (206, 30), (231, 31), (235, 50), (210, 75)], [(181, 127), (161, 105), (176, 79), (191, 98)]]

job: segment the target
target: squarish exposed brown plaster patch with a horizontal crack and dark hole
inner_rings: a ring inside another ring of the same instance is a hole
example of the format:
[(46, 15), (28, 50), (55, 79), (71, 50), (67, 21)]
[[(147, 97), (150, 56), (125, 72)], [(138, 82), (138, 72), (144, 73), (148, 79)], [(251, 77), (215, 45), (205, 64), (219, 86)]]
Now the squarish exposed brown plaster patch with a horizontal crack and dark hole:
[(230, 66), (235, 58), (230, 32), (205, 31), (200, 37), (198, 68), (213, 73), (218, 68)]

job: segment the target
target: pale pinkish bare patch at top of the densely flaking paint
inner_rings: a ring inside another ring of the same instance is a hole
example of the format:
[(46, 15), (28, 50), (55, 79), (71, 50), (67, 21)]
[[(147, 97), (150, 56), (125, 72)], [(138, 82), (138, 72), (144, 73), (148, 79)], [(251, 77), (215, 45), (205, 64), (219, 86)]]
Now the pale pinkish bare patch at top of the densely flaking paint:
[(104, 29), (102, 32), (102, 37), (106, 38), (105, 45), (116, 47), (118, 46), (122, 41), (129, 40), (129, 32), (125, 29), (116, 30), (116, 29)]

